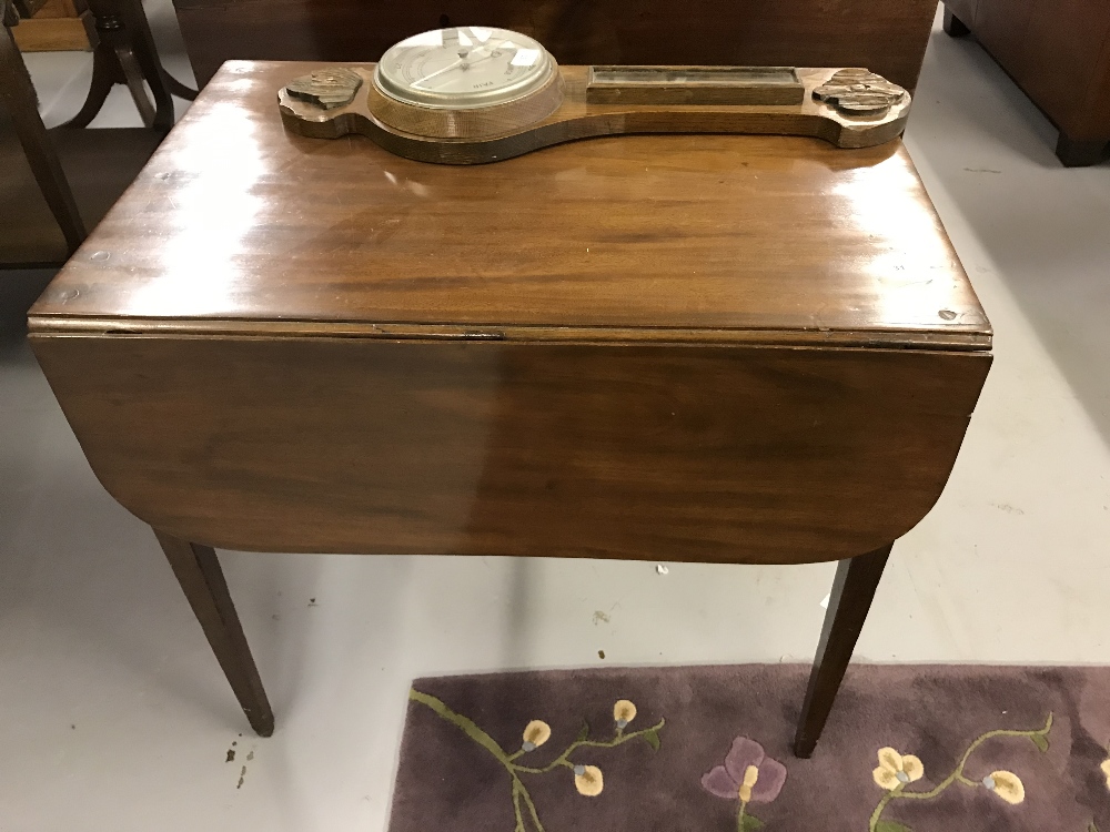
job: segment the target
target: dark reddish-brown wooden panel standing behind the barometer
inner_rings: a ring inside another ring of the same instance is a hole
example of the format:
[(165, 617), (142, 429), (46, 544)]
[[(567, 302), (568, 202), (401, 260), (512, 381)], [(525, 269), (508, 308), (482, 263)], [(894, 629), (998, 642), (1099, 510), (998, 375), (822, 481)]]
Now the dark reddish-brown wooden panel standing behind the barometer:
[(867, 67), (912, 92), (936, 0), (174, 0), (196, 74), (223, 61), (376, 61), (445, 26), (531, 35), (559, 63)]

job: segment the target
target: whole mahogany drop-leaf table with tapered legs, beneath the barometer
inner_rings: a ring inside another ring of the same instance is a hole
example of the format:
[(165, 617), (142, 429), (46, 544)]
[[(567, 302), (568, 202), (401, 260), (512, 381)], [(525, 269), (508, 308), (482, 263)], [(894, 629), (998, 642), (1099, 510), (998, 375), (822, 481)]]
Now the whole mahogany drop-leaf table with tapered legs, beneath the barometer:
[(273, 714), (213, 547), (839, 560), (811, 753), (991, 361), (901, 142), (440, 166), (285, 133), (276, 91), (317, 65), (225, 64), (30, 319), (251, 724)]

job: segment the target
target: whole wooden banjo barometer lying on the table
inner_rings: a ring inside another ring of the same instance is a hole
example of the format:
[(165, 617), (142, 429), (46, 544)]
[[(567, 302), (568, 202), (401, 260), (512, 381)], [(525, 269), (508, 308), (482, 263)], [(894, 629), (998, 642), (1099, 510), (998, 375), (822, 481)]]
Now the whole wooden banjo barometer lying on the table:
[(376, 64), (331, 67), (279, 93), (286, 129), (362, 133), (402, 156), (475, 164), (625, 133), (808, 135), (865, 148), (901, 134), (910, 97), (859, 68), (559, 67), (507, 29), (413, 35)]

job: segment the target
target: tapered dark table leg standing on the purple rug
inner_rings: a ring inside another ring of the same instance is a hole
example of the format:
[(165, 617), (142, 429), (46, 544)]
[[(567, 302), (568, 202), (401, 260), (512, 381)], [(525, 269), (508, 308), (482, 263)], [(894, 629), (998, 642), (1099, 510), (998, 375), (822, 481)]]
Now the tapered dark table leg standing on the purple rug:
[[(892, 546), (892, 544), (891, 544)], [(875, 597), (875, 588), (882, 577), (882, 567), (890, 555), (890, 546), (868, 555), (841, 560), (837, 565), (825, 627), (817, 646), (817, 658), (809, 674), (809, 688), (798, 719), (798, 733), (794, 738), (794, 753), (808, 758), (825, 729), (840, 689), (840, 681), (856, 649), (856, 640), (864, 628), (867, 611)]]

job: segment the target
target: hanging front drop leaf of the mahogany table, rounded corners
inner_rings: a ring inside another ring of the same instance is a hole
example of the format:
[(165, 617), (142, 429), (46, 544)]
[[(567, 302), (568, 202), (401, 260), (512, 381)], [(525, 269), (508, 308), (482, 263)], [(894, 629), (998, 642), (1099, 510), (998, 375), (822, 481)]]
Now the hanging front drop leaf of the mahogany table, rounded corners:
[(948, 478), (990, 357), (33, 335), (92, 469), (263, 551), (834, 560)]

